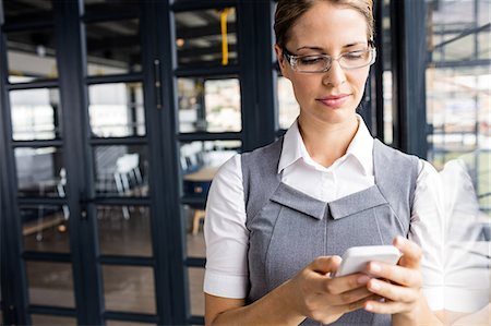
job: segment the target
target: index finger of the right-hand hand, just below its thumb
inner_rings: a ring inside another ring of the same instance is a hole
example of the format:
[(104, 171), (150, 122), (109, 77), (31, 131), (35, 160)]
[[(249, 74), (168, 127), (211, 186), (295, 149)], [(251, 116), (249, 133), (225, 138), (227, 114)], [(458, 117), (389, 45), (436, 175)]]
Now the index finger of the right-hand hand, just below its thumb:
[(370, 262), (367, 264), (367, 273), (374, 278), (384, 278), (395, 283), (410, 287), (421, 288), (421, 273), (404, 266), (390, 265), (380, 262)]

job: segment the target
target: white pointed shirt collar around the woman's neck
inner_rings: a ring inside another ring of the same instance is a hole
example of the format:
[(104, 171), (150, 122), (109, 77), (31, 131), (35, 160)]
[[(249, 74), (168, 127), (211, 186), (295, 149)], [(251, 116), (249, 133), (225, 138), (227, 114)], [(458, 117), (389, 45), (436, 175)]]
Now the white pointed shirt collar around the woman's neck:
[[(344, 157), (354, 157), (363, 169), (363, 173), (366, 176), (373, 174), (373, 137), (364, 124), (361, 116), (357, 114), (357, 118), (359, 121), (358, 131), (349, 144)], [(311, 166), (318, 165), (307, 152), (302, 136), (298, 129), (298, 120), (296, 120), (288, 129), (284, 137), (282, 156), (278, 162), (278, 173), (299, 159), (303, 159)]]

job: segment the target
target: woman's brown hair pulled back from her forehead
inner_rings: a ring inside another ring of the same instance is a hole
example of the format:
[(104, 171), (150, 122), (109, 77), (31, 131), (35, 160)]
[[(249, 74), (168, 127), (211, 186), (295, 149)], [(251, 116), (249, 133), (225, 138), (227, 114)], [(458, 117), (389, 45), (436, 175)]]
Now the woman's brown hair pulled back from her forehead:
[[(320, 0), (279, 0), (275, 13), (276, 43), (280, 47), (289, 39), (291, 26), (304, 14), (316, 1)], [(346, 5), (358, 11), (367, 21), (367, 37), (373, 38), (373, 0), (322, 0), (335, 5)]]

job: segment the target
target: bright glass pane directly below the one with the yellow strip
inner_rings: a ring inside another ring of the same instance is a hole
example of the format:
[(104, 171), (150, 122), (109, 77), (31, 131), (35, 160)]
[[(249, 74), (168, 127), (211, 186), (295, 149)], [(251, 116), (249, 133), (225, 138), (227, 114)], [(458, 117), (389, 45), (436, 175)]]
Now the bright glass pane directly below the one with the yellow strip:
[(179, 131), (242, 130), (238, 79), (178, 79)]

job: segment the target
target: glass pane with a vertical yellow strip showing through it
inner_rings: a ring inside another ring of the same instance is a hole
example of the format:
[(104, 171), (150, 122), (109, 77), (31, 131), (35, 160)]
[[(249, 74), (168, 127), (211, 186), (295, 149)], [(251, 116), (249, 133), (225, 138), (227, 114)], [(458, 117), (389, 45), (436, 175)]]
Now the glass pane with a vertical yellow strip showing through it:
[[(178, 12), (175, 17), (179, 65), (237, 64), (236, 10), (233, 8)], [(221, 20), (224, 24), (220, 23)]]

